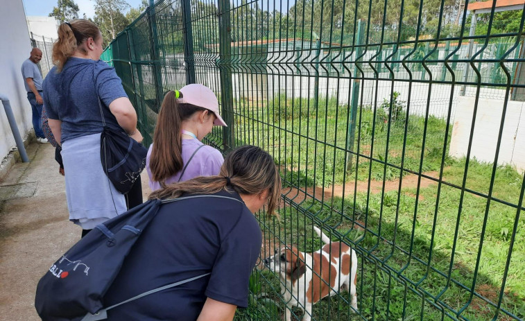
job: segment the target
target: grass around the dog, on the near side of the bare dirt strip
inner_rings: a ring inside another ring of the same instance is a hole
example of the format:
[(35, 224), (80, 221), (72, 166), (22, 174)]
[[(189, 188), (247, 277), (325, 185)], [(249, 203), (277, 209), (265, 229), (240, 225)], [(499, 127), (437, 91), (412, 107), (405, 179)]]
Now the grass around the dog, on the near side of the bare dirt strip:
[[(483, 165), (476, 164), (476, 166)], [(453, 172), (454, 169), (456, 168), (451, 168), (450, 171)], [(501, 169), (503, 172), (508, 171), (506, 168)], [(509, 184), (510, 186), (517, 179), (517, 177), (506, 178), (508, 179), (497, 179), (496, 185)], [(429, 297), (431, 302), (447, 288), (440, 296), (440, 304), (446, 304), (452, 311), (458, 311), (467, 304), (470, 296), (469, 290), (461, 288), (458, 284), (472, 288), (473, 281), (476, 281), (474, 287), (476, 292), (486, 300), (497, 303), (515, 210), (505, 205), (491, 207), (483, 238), (479, 270), (474, 279), (486, 200), (471, 194), (465, 195), (463, 211), (458, 219), (461, 191), (444, 187), (440, 194), (440, 207), (434, 224), (436, 189), (436, 186), (431, 186), (420, 191), (423, 200), (418, 204), (415, 223), (413, 223), (415, 197), (411, 196), (415, 191), (410, 189), (402, 192), (399, 197), (399, 207), (396, 206), (397, 192), (387, 193), (390, 201), (383, 202), (382, 211), (380, 193), (370, 196), (368, 211), (363, 210), (367, 208), (367, 196), (365, 193), (360, 193), (356, 205), (350, 200), (336, 199), (334, 202), (336, 206), (333, 209), (324, 209), (320, 202), (309, 200), (307, 204), (303, 204), (303, 207), (311, 206), (306, 216), (300, 211), (286, 207), (281, 211), (280, 221), (272, 222), (262, 217), (259, 219), (261, 225), (264, 225), (265, 241), (270, 244), (270, 248), (278, 248), (282, 243), (298, 245), (300, 250), (308, 252), (320, 248), (320, 240), (311, 230), (313, 217), (316, 225), (320, 225), (320, 221), (324, 222), (322, 226), (325, 228), (325, 233), (337, 231), (347, 243), (355, 244), (359, 248), (359, 308), (364, 319), (350, 312), (347, 293), (343, 293), (343, 297), (325, 298), (316, 304), (313, 311), (316, 320), (454, 320), (447, 315), (442, 315), (440, 310), (431, 306), (429, 302), (423, 302), (422, 297), (410, 288), (424, 291), (431, 296)], [(508, 190), (506, 197), (513, 198), (515, 191), (515, 189)], [(396, 224), (397, 208), (399, 208), (399, 216)], [(454, 262), (451, 263), (454, 232), (458, 220), (455, 257)], [(365, 229), (356, 228), (355, 225), (352, 228), (353, 222), (365, 224)], [(379, 223), (381, 223), (381, 230), (379, 230)], [(525, 268), (525, 246), (523, 242), (518, 241), (524, 239), (524, 220), (521, 220), (519, 226), (521, 229), (517, 232), (513, 261), (501, 306), (518, 318), (525, 318), (525, 288), (522, 276)], [(435, 227), (434, 231), (433, 227)], [(509, 236), (501, 234), (502, 228), (508, 229)], [(374, 234), (380, 234), (380, 237)], [(338, 236), (332, 234), (331, 238), (338, 239)], [(396, 247), (393, 246), (394, 240)], [(412, 250), (411, 258), (406, 253), (410, 250)], [(262, 257), (268, 255), (270, 253), (261, 253)], [(439, 272), (445, 276), (440, 275)], [(447, 287), (447, 277), (458, 284), (451, 282)], [(406, 282), (402, 281), (403, 279), (420, 284), (418, 286), (408, 284), (408, 287), (405, 287)], [(278, 279), (265, 277), (260, 282), (263, 284), (263, 291), (273, 292), (270, 297), (279, 300)], [(344, 297), (346, 302), (343, 300)], [(448, 312), (454, 315), (452, 311)], [(466, 320), (490, 320), (494, 311), (495, 309), (484, 299), (475, 297), (461, 315)], [(329, 314), (332, 315), (331, 318), (327, 317)], [(504, 315), (498, 320), (513, 319)]]

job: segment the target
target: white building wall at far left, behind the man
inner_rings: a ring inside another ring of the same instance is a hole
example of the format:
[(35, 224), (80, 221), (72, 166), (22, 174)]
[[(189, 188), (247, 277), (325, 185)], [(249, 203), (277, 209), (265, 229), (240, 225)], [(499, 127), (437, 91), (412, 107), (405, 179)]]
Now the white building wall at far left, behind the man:
[[(20, 67), (29, 58), (31, 42), (22, 0), (3, 1), (0, 10), (0, 92), (8, 96), (22, 137), (33, 128)], [(6, 112), (0, 106), (0, 159), (16, 146)]]

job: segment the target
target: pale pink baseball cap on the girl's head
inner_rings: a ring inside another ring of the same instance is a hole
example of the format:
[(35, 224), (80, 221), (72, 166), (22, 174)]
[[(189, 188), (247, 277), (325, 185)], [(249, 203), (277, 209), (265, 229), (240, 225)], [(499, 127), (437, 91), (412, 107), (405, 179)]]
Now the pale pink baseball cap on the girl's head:
[(203, 107), (210, 112), (213, 112), (217, 117), (214, 125), (227, 126), (220, 114), (218, 114), (218, 101), (212, 89), (205, 85), (190, 84), (180, 89), (182, 97), (179, 98), (179, 103), (186, 103), (197, 107)]

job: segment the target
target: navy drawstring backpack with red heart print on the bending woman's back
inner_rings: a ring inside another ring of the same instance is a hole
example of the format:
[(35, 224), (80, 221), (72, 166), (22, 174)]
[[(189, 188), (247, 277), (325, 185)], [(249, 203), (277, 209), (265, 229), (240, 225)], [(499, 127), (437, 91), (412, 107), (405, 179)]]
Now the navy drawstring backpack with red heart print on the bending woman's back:
[(35, 295), (35, 309), (43, 321), (105, 320), (107, 310), (127, 304), (210, 273), (184, 279), (149, 290), (113, 306), (104, 307), (103, 297), (119, 274), (122, 264), (141, 233), (155, 218), (161, 204), (190, 198), (236, 198), (196, 195), (173, 200), (148, 200), (129, 211), (97, 225), (63, 254), (40, 279)]

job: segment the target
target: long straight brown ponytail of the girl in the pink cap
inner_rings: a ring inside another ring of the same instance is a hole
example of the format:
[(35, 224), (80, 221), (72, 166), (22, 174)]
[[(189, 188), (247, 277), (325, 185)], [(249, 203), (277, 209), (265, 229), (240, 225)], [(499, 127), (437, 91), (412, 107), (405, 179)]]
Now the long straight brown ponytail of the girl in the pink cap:
[(182, 121), (198, 111), (206, 110), (189, 104), (178, 103), (181, 92), (169, 91), (160, 107), (153, 133), (150, 170), (153, 180), (166, 186), (166, 180), (182, 170)]

